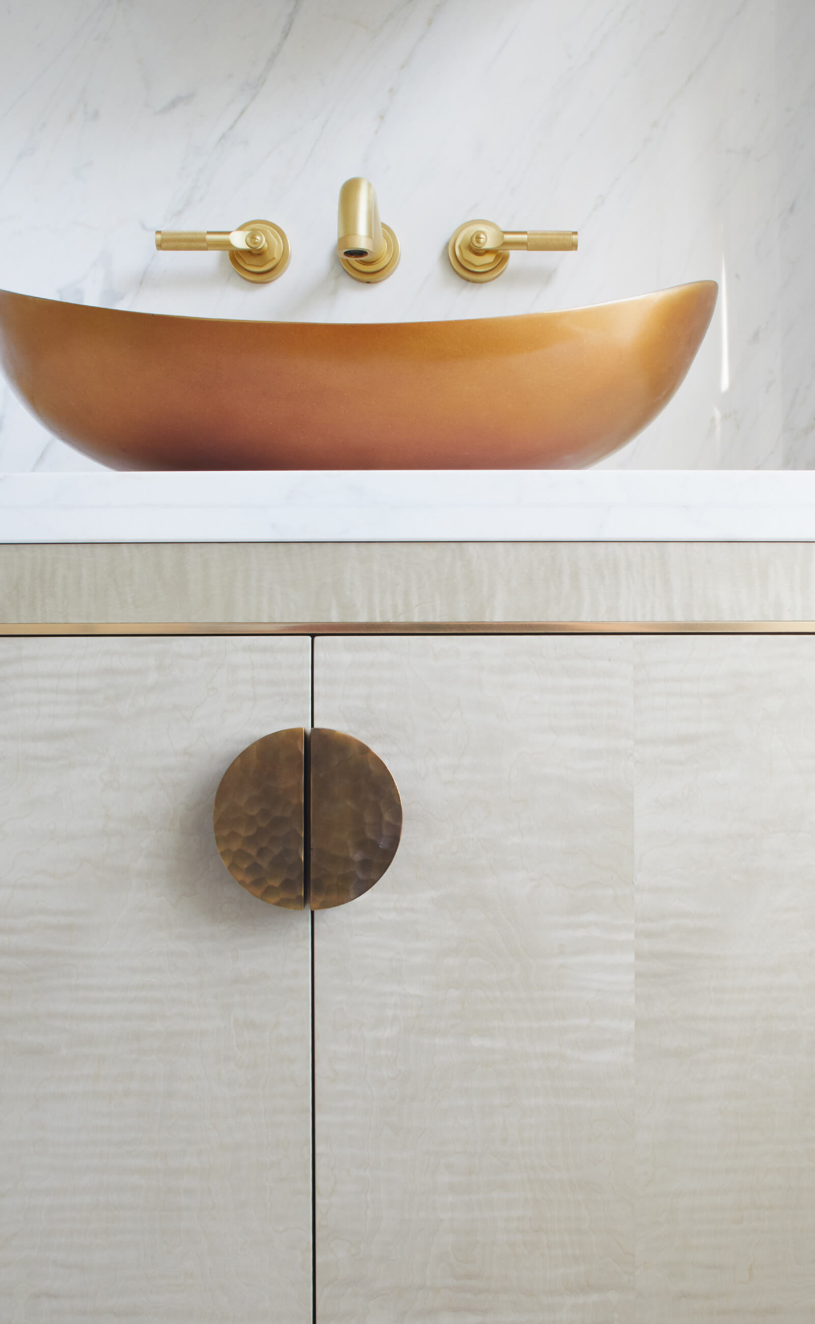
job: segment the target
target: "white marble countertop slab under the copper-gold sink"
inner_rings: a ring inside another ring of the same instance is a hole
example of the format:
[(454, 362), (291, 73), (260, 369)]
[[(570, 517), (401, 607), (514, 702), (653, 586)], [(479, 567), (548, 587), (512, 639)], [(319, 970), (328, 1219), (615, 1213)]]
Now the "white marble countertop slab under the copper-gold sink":
[(595, 540), (815, 540), (815, 473), (0, 475), (0, 543)]

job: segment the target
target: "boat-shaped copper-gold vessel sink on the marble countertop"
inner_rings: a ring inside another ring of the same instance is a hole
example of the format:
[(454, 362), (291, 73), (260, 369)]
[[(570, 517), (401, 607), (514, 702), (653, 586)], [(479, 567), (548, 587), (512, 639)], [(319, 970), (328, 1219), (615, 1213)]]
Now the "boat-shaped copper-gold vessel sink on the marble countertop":
[(717, 289), (370, 326), (0, 291), (0, 361), (50, 432), (114, 469), (576, 469), (671, 400)]

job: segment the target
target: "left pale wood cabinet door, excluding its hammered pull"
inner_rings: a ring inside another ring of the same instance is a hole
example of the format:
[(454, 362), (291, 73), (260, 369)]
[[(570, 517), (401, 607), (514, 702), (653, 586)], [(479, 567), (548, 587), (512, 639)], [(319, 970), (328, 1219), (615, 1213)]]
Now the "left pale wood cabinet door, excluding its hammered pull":
[(0, 1317), (311, 1319), (310, 935), (212, 802), (307, 639), (0, 642)]

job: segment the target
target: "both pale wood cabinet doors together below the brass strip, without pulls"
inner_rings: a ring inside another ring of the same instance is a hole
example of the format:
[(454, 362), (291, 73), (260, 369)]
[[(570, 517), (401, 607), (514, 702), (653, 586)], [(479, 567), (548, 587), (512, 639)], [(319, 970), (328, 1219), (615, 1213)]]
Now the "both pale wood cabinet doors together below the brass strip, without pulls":
[[(314, 1214), (318, 1321), (810, 1320), (815, 638), (0, 659), (4, 1319), (306, 1324)], [(404, 810), (314, 916), (211, 826), (311, 724)]]

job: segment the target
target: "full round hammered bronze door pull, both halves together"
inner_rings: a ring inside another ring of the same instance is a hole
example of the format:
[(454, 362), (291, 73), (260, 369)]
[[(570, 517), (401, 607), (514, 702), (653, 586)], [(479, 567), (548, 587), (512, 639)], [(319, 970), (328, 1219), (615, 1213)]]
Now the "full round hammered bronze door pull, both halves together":
[(262, 736), (229, 764), (213, 828), (224, 865), (253, 896), (286, 910), (329, 910), (379, 882), (399, 846), (402, 801), (362, 740), (293, 727)]

